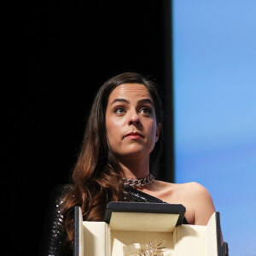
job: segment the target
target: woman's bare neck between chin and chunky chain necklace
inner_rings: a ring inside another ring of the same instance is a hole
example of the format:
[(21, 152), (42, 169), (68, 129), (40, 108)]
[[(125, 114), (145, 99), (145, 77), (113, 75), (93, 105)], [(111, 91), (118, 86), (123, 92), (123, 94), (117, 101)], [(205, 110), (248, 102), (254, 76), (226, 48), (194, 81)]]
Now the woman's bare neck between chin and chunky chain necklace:
[(148, 176), (149, 174), (149, 159), (147, 160), (119, 160), (125, 177), (138, 179)]

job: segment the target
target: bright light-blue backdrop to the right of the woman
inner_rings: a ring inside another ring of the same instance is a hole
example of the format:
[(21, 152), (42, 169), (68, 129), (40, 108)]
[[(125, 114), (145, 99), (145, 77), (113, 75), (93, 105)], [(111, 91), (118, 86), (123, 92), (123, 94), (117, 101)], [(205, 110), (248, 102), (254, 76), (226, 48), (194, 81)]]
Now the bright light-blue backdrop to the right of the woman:
[(172, 1), (175, 182), (212, 194), (231, 256), (256, 255), (256, 1)]

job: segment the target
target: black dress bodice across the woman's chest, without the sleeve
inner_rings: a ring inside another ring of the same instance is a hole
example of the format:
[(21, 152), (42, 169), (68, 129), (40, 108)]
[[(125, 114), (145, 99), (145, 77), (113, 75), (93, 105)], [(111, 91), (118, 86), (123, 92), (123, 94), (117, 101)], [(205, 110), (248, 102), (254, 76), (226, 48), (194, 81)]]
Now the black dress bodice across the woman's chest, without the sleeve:
[[(131, 186), (124, 187), (126, 192), (126, 200), (127, 201), (137, 201), (137, 202), (153, 202), (153, 203), (167, 203), (166, 201), (162, 201), (153, 195), (148, 195), (140, 190), (133, 189)], [(183, 224), (188, 224), (187, 219), (183, 218)]]

